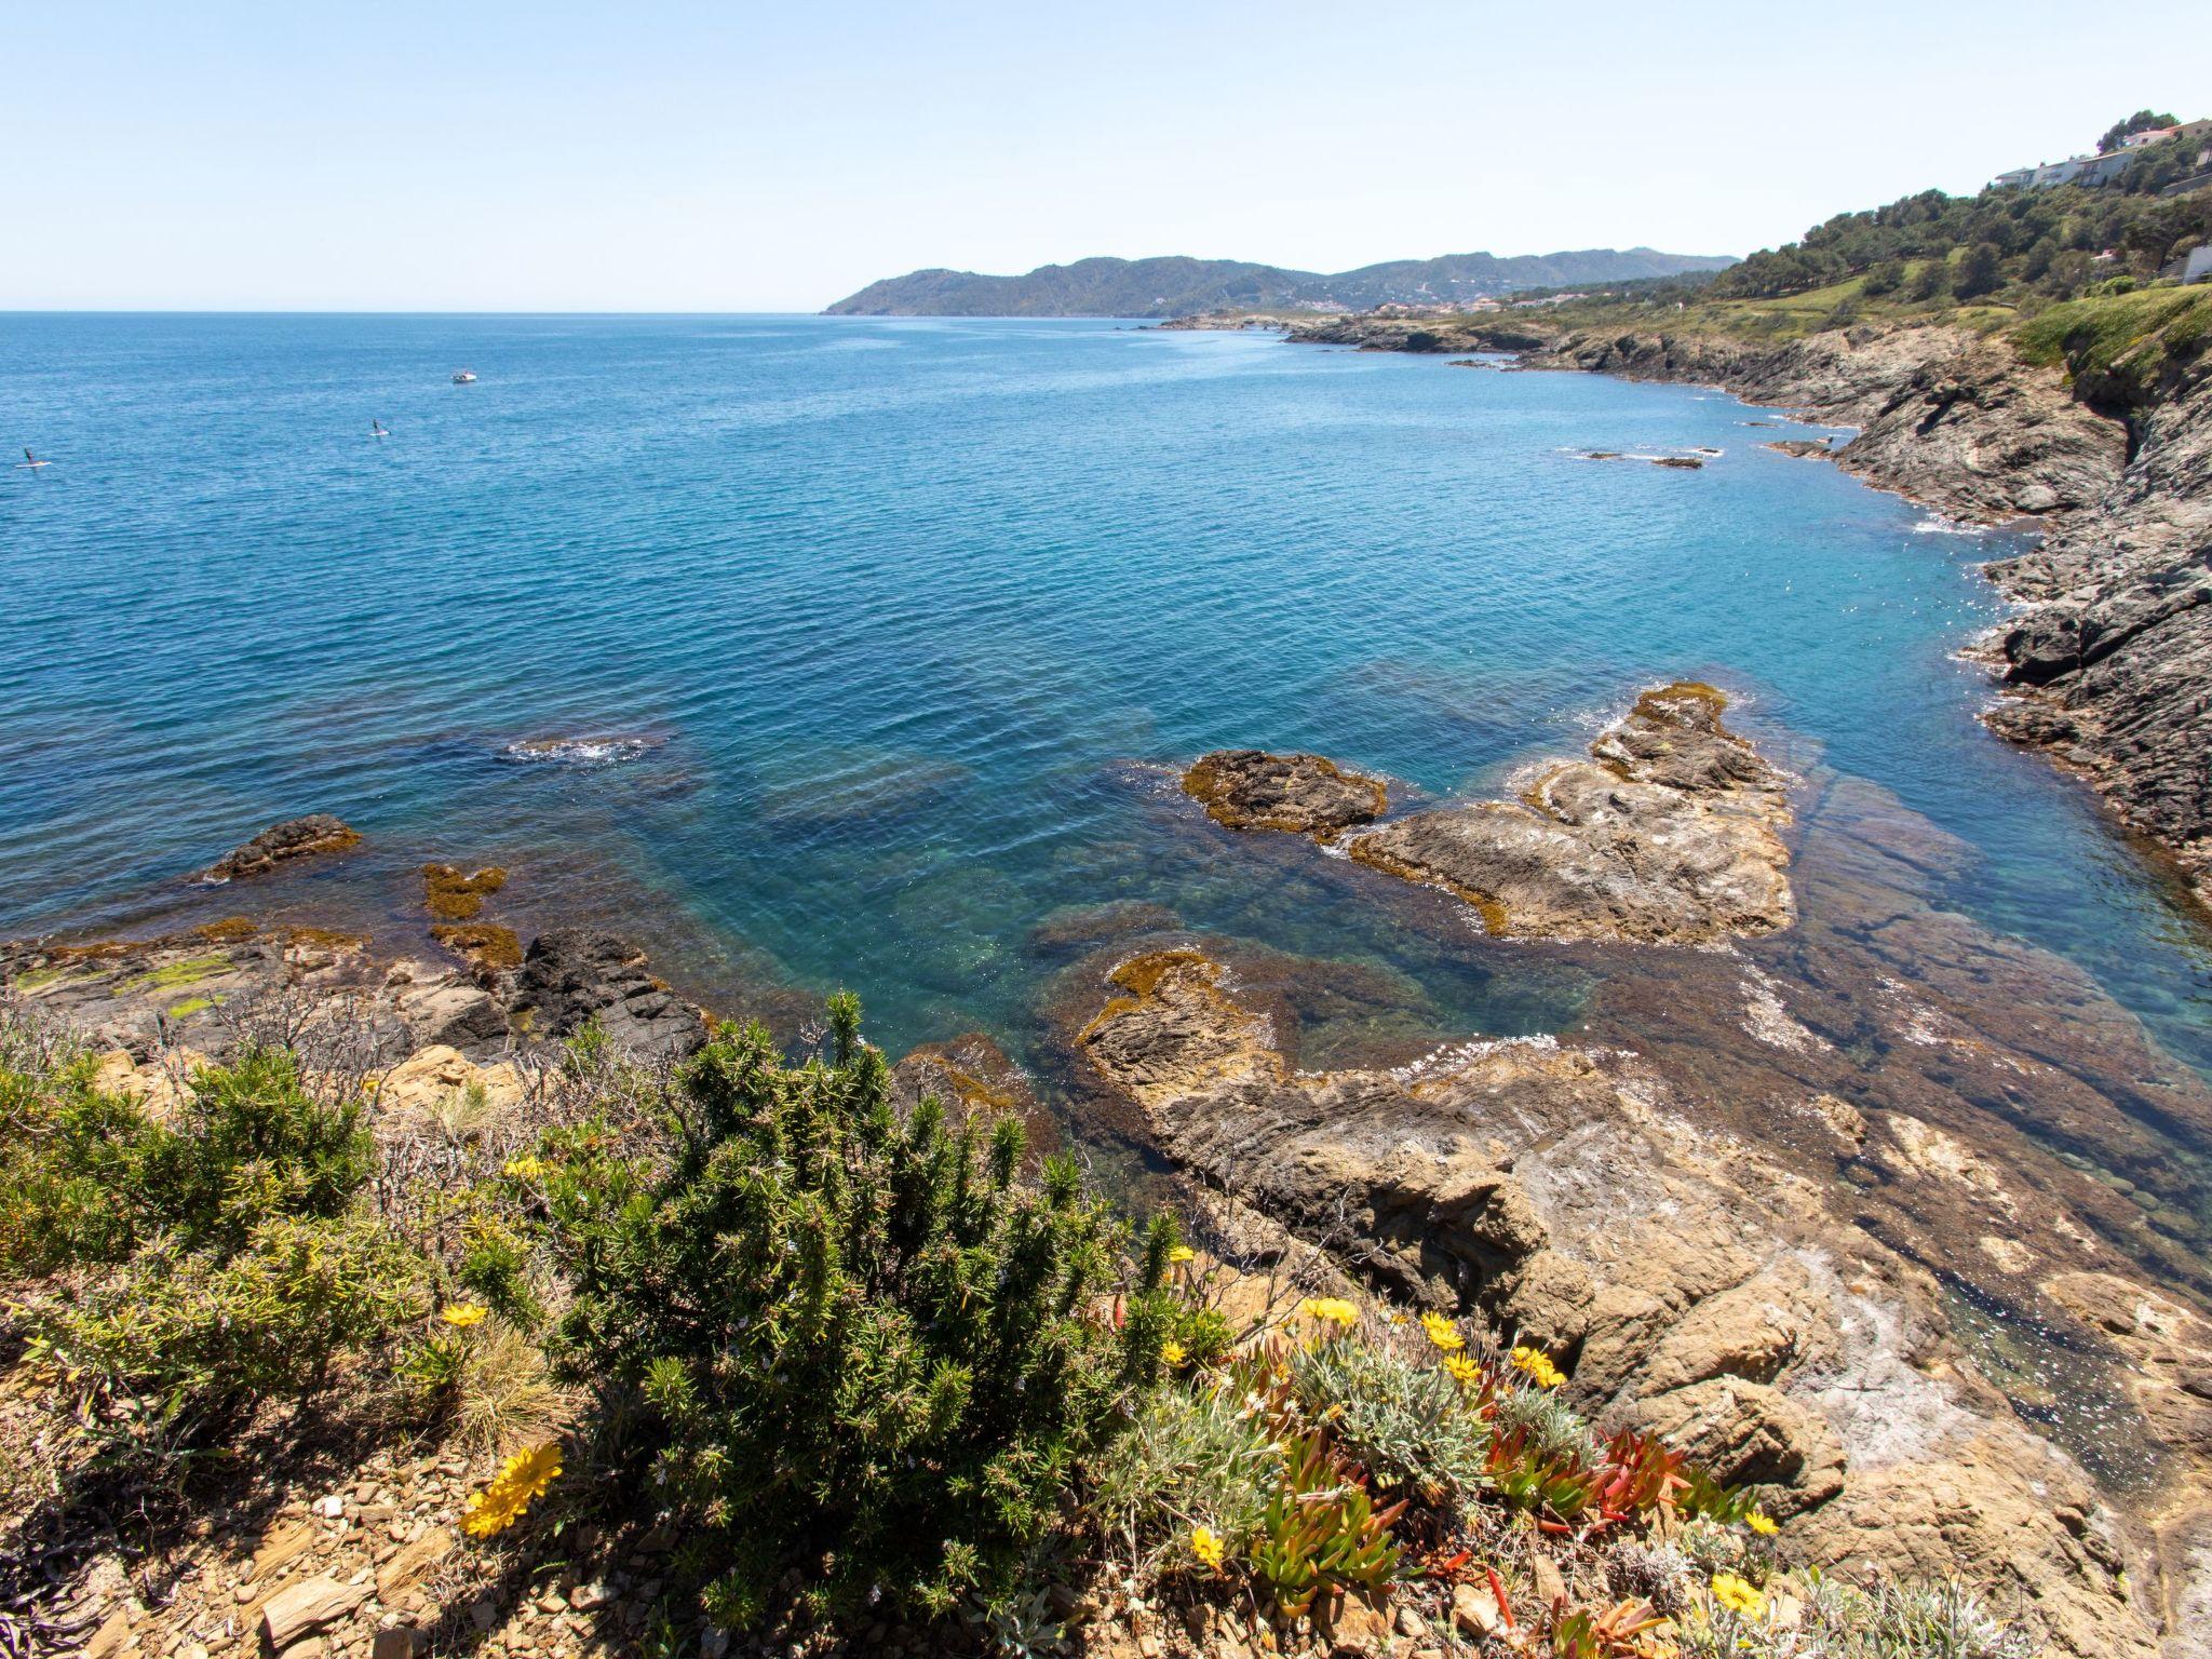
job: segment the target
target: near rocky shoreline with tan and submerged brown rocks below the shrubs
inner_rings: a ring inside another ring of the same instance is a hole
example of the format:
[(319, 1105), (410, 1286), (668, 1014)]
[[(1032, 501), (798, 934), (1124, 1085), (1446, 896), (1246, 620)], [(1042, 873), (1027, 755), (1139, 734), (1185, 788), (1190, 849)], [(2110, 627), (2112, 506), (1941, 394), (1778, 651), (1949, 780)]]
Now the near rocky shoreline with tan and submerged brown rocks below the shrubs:
[[(1940, 909), (1942, 832), (1725, 712), (1659, 686), (1515, 799), (1398, 816), (1358, 757), (1203, 757), (1159, 801), (1188, 834), (1608, 978), (1559, 1037), (1305, 1064), (1307, 1011), (1358, 995), (1343, 964), (1124, 907), (1060, 929), (1062, 1121), (1126, 1128), (1217, 1259), (1305, 1252), (1540, 1347), (1593, 1420), (1759, 1486), (1792, 1559), (1964, 1577), (2059, 1655), (2199, 1652), (2212, 1270), (2177, 1148), (2212, 1144), (2212, 1091), (2079, 973)], [(502, 927), (504, 872), (416, 869), (425, 933)], [(234, 916), (0, 947), (0, 982), (155, 1104), (201, 1055), (343, 1026), (394, 1124), (526, 1108), (586, 1022), (648, 1062), (703, 1040), (619, 936), (509, 938), (440, 964)], [(894, 1091), (1053, 1133), (982, 1033), (916, 1048)]]

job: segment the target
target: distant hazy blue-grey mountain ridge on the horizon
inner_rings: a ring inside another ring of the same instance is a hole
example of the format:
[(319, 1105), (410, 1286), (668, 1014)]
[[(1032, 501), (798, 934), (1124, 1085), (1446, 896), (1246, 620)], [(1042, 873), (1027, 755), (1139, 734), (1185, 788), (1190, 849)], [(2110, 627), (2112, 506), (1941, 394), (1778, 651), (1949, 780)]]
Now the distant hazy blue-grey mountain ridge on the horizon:
[(1624, 283), (1725, 270), (1728, 254), (1586, 248), (1568, 254), (1391, 259), (1334, 276), (1243, 259), (1077, 259), (1026, 276), (918, 270), (841, 299), (830, 316), (1188, 316), (1221, 310), (1449, 305), (1515, 288)]

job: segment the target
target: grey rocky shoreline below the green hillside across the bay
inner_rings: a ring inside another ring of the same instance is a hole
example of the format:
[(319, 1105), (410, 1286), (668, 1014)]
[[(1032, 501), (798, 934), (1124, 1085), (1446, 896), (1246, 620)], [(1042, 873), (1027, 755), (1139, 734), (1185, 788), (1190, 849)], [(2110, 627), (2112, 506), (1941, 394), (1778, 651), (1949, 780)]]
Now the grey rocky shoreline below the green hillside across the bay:
[(1829, 453), (1878, 489), (1962, 524), (2035, 531), (2033, 549), (1986, 566), (2028, 606), (1986, 641), (2006, 688), (1989, 726), (2081, 774), (2212, 905), (2212, 354), (2177, 358), (2143, 392), (2068, 383), (2004, 341), (1938, 325), (1759, 345), (1478, 316), (1267, 321), (1305, 345), (1502, 352), (1520, 369), (1721, 387), (1854, 427)]

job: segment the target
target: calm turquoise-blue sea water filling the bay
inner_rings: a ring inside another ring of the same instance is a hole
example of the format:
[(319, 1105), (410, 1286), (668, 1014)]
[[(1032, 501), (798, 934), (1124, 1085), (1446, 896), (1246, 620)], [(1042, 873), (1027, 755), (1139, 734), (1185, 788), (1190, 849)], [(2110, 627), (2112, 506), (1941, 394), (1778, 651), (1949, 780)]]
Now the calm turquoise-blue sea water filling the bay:
[[(469, 365), (478, 383), (456, 387)], [(389, 438), (369, 436), (369, 420)], [(1949, 900), (2212, 1064), (2201, 931), (1989, 739), (1986, 540), (1719, 394), (1110, 323), (0, 319), (0, 936), (343, 814), (411, 902), (681, 918), (887, 1044), (1035, 1031), (1040, 925), (1141, 900), (1436, 1029), (1573, 1018), (1155, 770), (1314, 748), (1436, 796), (1714, 677), (1980, 852)], [(1575, 449), (1723, 453), (1703, 471)], [(628, 759), (515, 761), (540, 737)]]

